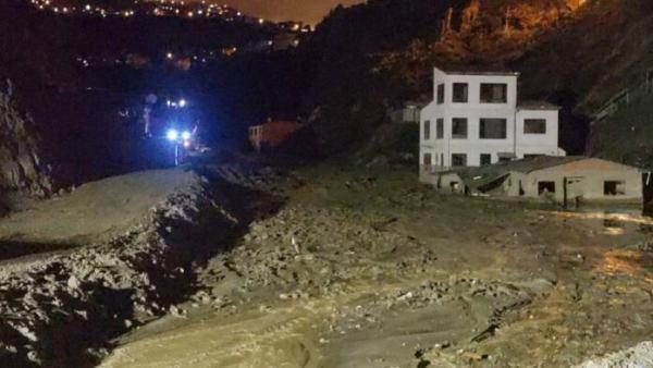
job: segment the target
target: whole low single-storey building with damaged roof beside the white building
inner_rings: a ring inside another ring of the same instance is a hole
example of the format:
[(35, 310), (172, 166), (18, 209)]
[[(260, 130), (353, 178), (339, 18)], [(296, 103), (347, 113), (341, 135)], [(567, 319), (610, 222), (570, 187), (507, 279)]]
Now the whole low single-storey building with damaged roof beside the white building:
[(581, 156), (534, 157), (481, 168), (423, 173), (444, 193), (545, 199), (558, 204), (643, 200), (638, 168)]

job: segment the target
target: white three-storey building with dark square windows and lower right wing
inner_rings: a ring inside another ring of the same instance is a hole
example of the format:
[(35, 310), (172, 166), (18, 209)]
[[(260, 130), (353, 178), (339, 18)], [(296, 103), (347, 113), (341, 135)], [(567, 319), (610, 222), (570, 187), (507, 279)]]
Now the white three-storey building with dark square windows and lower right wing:
[(434, 98), (421, 111), (422, 171), (479, 167), (530, 156), (565, 156), (558, 108), (517, 102), (519, 73), (435, 69)]

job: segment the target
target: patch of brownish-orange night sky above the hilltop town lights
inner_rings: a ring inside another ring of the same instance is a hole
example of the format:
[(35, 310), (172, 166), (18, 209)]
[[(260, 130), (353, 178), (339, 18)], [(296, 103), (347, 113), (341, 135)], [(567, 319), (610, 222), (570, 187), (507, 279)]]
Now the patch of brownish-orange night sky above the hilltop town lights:
[(304, 21), (316, 24), (338, 3), (352, 5), (364, 0), (220, 0), (220, 2), (272, 21)]

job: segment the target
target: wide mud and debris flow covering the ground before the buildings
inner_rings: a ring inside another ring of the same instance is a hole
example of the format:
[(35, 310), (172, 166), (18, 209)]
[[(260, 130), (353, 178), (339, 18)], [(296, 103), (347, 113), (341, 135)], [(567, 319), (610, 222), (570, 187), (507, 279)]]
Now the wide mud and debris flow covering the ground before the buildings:
[(560, 367), (653, 335), (649, 219), (350, 169), (299, 171), (285, 206), (199, 271), (186, 314), (101, 366)]

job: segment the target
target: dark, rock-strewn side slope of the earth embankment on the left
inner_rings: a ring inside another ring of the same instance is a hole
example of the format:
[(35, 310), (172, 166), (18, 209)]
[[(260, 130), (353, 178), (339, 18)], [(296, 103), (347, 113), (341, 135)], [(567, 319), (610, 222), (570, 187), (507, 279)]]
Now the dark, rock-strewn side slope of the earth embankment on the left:
[(0, 366), (87, 366), (107, 353), (103, 342), (172, 312), (197, 262), (234, 228), (206, 184), (170, 196), (108, 244), (3, 267)]

